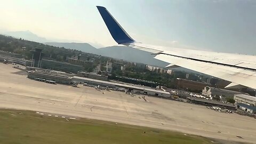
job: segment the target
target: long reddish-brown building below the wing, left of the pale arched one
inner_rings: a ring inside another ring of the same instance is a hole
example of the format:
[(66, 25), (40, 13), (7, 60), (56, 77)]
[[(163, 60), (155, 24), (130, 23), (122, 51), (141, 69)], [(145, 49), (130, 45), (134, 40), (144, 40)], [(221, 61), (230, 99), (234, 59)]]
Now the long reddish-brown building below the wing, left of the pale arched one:
[(183, 89), (188, 91), (202, 91), (205, 86), (210, 86), (210, 84), (196, 81), (189, 81), (187, 79), (177, 78), (175, 79), (175, 84), (177, 89)]

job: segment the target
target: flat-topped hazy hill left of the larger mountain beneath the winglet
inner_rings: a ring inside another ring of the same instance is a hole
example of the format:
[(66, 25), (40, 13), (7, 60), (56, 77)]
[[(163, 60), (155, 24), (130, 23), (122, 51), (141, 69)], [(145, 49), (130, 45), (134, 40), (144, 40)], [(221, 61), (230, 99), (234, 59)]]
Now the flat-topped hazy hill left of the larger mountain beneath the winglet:
[(66, 49), (74, 49), (82, 52), (87, 52), (87, 53), (93, 53), (93, 54), (98, 54), (98, 49), (95, 47), (91, 46), (88, 43), (54, 43), (54, 42), (47, 42), (44, 43), (47, 45), (52, 45), (52, 46), (58, 46), (58, 47), (65, 47)]

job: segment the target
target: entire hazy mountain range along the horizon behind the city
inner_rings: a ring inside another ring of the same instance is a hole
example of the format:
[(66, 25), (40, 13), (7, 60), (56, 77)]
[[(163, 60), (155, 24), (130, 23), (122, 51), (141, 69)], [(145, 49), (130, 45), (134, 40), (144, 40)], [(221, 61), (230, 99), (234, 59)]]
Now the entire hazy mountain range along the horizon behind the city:
[[(154, 59), (154, 55), (152, 55), (149, 52), (133, 49), (132, 47), (127, 47), (127, 46), (109, 46), (109, 47), (101, 47), (100, 49), (97, 49), (89, 43), (67, 43), (67, 42), (70, 42), (70, 40), (67, 40), (65, 43), (60, 43), (54, 40), (49, 40), (44, 37), (39, 37), (29, 30), (5, 31), (4, 33), (2, 32), (2, 34), (7, 36), (12, 36), (15, 38), (26, 39), (28, 41), (44, 43), (47, 45), (65, 47), (67, 49), (75, 49), (75, 50), (79, 50), (86, 53), (103, 55), (103, 56), (114, 58), (114, 59), (122, 59), (125, 61), (145, 63), (146, 65), (153, 65), (158, 67), (165, 67), (168, 65), (167, 62)], [(190, 71), (183, 68), (178, 68), (178, 69)]]

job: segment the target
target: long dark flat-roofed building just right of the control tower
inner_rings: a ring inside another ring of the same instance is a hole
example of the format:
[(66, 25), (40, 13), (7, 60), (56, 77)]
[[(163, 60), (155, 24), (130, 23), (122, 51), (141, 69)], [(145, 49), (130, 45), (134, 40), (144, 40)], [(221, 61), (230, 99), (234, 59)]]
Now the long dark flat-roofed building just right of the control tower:
[(71, 72), (71, 73), (77, 73), (77, 71), (83, 70), (82, 66), (72, 65), (67, 62), (60, 62), (60, 61), (46, 60), (46, 59), (42, 59), (41, 68), (59, 70), (59, 71), (65, 71), (65, 72)]

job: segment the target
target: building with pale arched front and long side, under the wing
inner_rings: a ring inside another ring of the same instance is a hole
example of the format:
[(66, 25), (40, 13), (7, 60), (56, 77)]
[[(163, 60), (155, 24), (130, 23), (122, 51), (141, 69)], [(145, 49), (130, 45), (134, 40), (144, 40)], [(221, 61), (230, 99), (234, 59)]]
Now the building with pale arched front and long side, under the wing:
[(222, 96), (223, 99), (227, 97), (233, 98), (235, 94), (242, 94), (242, 93), (237, 91), (226, 90), (226, 89), (218, 89), (210, 86), (205, 86), (202, 91), (202, 95), (208, 98), (211, 98), (214, 95)]

